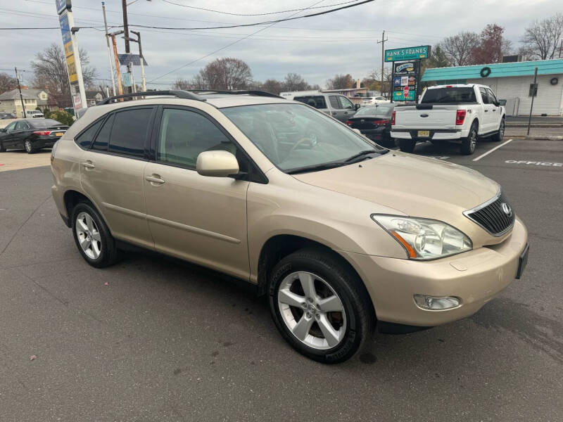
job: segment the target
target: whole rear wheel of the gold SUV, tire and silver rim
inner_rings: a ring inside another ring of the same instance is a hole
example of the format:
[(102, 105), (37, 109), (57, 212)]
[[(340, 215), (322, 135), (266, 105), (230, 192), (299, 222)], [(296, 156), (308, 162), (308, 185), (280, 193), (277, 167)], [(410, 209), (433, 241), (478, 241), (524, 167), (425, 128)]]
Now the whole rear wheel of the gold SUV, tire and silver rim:
[(79, 203), (72, 210), (72, 235), (80, 255), (92, 267), (108, 267), (117, 260), (115, 239), (90, 203)]

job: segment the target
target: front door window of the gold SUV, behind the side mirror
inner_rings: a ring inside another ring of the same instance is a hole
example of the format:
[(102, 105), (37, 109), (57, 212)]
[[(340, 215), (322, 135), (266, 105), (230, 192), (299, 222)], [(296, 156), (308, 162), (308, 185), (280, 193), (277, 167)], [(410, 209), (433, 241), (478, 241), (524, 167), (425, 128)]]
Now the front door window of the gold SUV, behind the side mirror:
[(207, 117), (179, 108), (163, 110), (156, 160), (195, 169), (199, 153), (217, 150), (237, 152), (236, 145)]

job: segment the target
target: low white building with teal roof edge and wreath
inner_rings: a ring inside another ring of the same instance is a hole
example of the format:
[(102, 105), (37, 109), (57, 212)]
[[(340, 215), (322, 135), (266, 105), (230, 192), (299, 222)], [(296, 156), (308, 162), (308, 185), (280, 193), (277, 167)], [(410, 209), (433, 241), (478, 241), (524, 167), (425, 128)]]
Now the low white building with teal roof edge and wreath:
[(533, 115), (563, 115), (563, 59), (426, 69), (421, 82), (488, 85), (506, 101), (507, 115), (528, 115), (532, 96)]

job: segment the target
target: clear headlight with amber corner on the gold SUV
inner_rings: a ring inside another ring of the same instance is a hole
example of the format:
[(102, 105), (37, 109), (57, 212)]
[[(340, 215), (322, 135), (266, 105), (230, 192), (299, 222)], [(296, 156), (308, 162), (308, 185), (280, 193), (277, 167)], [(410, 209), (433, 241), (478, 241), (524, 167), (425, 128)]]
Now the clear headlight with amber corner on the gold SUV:
[(473, 248), (470, 238), (438, 220), (382, 214), (372, 214), (372, 219), (403, 245), (410, 260), (434, 260)]

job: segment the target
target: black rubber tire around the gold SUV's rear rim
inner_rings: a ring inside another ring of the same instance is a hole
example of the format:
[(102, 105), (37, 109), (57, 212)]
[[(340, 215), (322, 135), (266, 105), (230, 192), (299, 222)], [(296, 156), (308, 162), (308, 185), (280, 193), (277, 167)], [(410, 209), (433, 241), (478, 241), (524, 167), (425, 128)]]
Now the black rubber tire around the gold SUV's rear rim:
[[(80, 240), (77, 234), (77, 217), (86, 213), (94, 220), (99, 233), (99, 256), (96, 258), (89, 257), (82, 247), (80, 246)], [(76, 247), (80, 252), (80, 255), (84, 258), (88, 264), (92, 267), (103, 268), (109, 267), (118, 260), (118, 249), (115, 246), (115, 239), (111, 236), (106, 222), (103, 221), (101, 215), (96, 210), (96, 208), (89, 202), (78, 203), (72, 210), (72, 237), (75, 239)]]

